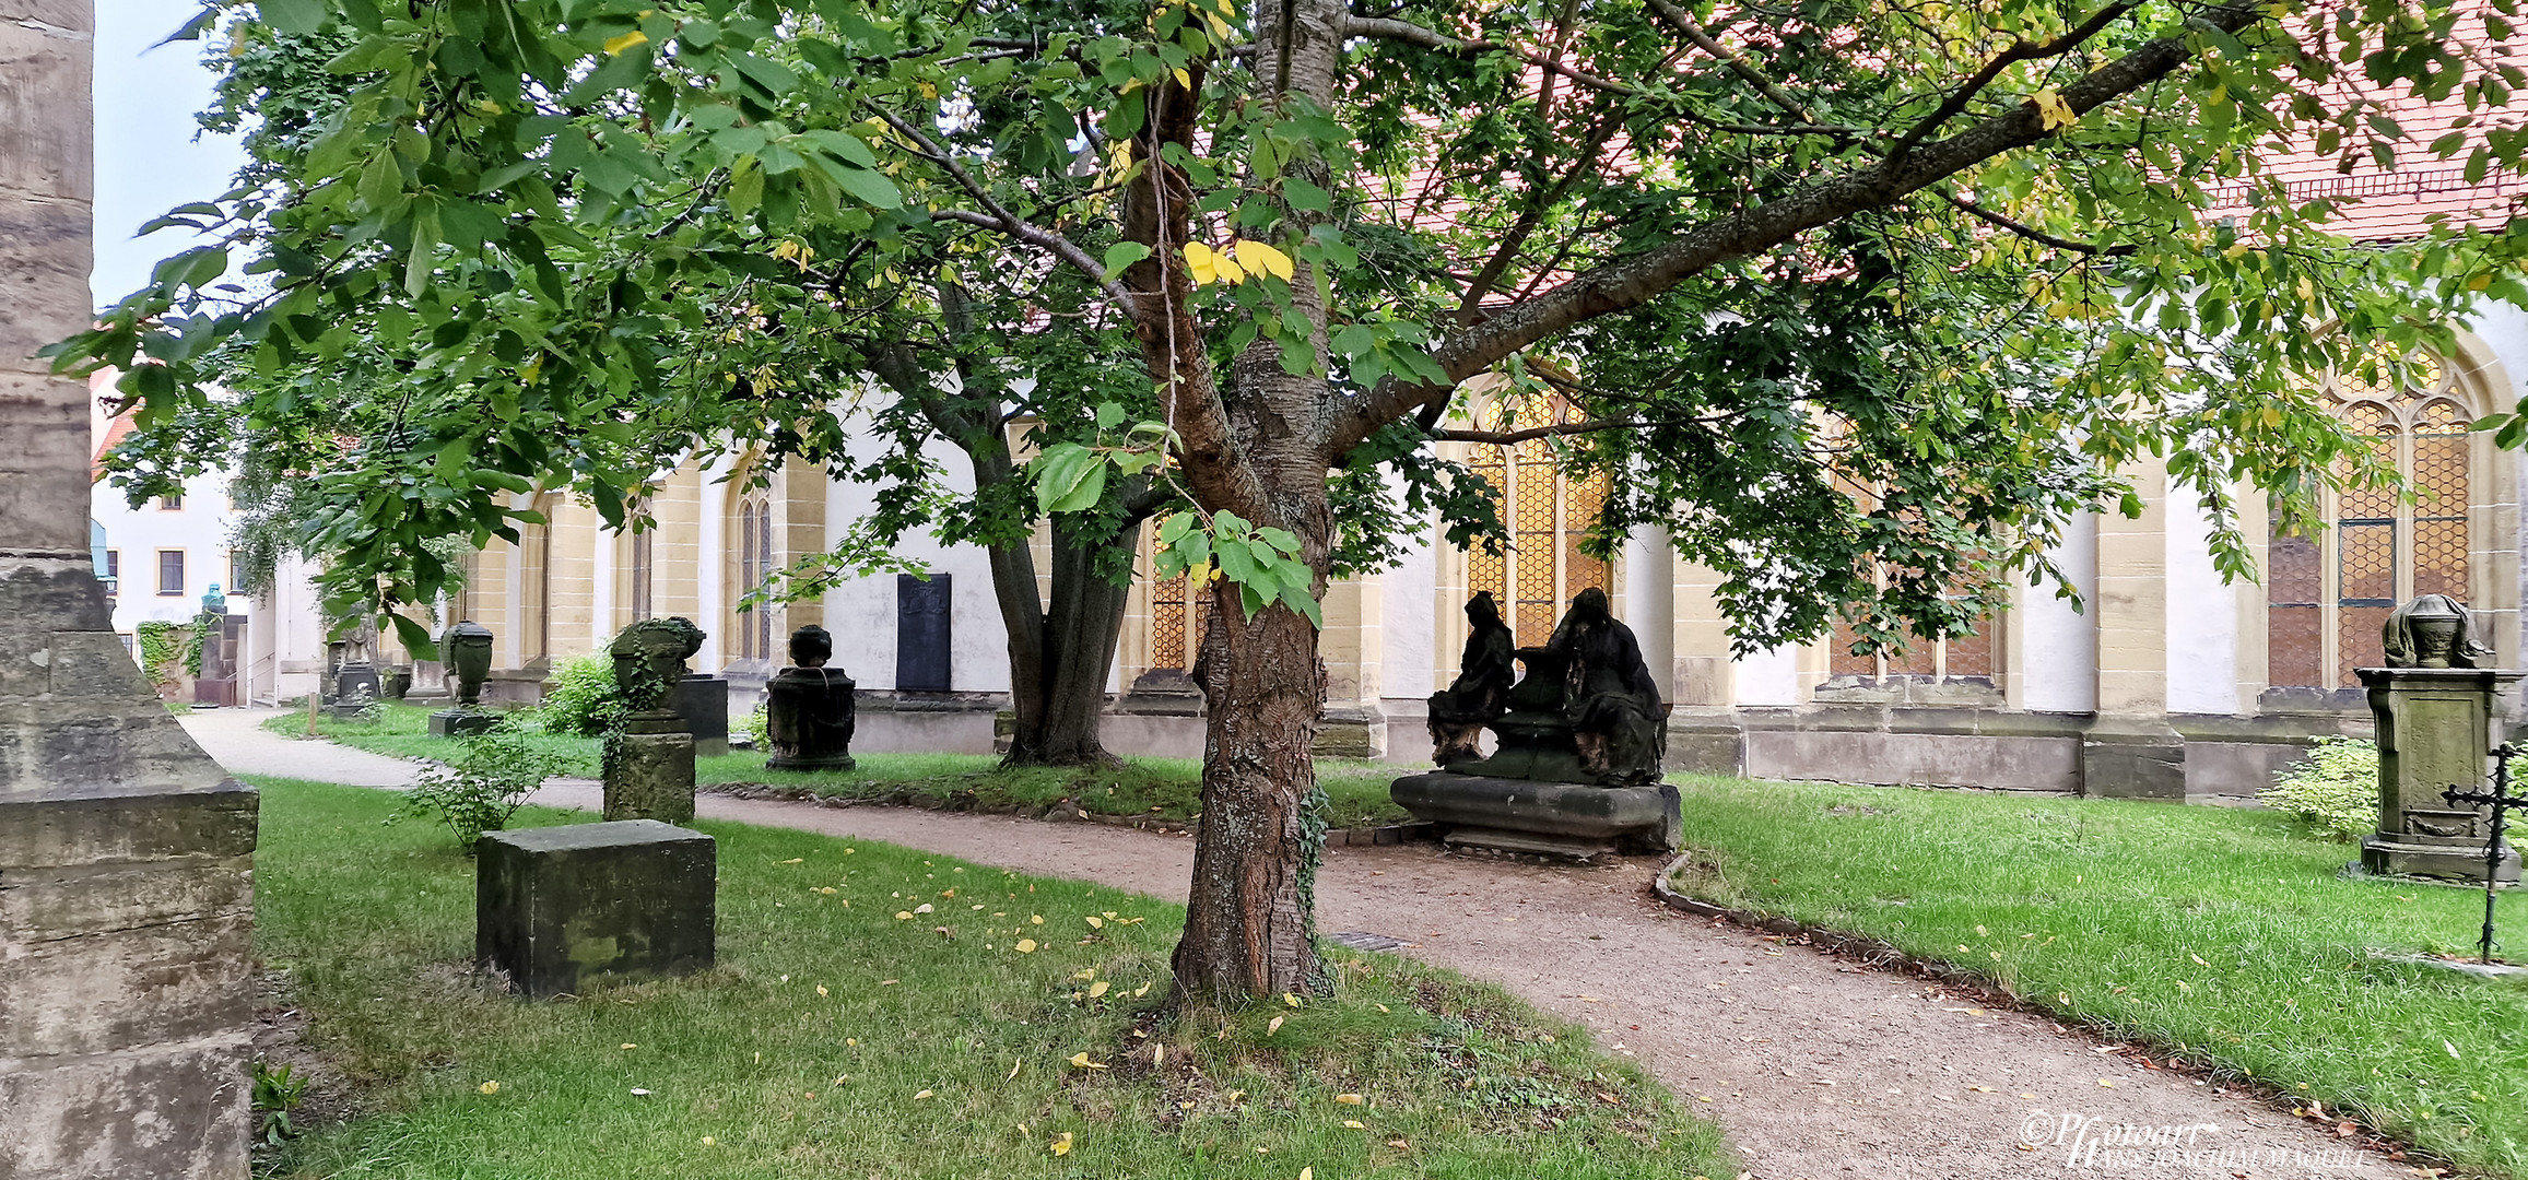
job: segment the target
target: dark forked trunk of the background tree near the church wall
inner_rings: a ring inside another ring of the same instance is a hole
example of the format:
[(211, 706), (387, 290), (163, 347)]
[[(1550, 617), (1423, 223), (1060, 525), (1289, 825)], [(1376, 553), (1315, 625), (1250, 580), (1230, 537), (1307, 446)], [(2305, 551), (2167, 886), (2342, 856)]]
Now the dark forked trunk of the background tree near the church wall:
[[(1019, 546), (1011, 546), (1019, 548)], [(1122, 606), (1130, 584), (1097, 576), (1097, 553), (1079, 543), (1067, 518), (1054, 518), (1054, 584), (1031, 659), (1021, 659), (1019, 629), (1009, 642), (1009, 682), (1016, 730), (1009, 738), (1006, 766), (1102, 766), (1117, 758), (1097, 738), (1105, 715), (1107, 672), (1115, 667), (1115, 637), (1122, 632)], [(1036, 601), (1034, 561), (1026, 584), (1009, 586)], [(994, 561), (994, 591), (1001, 586), (1001, 561)]]

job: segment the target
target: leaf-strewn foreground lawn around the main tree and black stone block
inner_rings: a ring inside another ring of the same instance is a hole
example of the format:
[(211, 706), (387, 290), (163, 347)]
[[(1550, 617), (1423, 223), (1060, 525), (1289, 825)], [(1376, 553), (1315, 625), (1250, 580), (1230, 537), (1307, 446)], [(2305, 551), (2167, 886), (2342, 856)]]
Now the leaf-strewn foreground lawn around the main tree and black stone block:
[[(715, 970), (511, 998), (468, 973), (445, 831), (260, 786), (255, 950), (364, 1109), (270, 1175), (1737, 1175), (1646, 1071), (1494, 988), (1335, 953), (1335, 998), (1168, 1023), (1178, 907), (872, 841), (698, 824)], [(556, 821), (584, 816), (521, 816)]]

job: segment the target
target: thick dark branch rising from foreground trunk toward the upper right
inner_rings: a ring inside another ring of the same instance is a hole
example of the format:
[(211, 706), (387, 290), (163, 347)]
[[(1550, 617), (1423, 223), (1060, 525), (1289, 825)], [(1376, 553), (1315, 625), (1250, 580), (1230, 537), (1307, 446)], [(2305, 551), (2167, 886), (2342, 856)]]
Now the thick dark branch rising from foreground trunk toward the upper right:
[[(2245, 0), (2209, 8), (2194, 20), (2222, 33), (2237, 33), (2265, 20), (2260, 3)], [(2187, 33), (2177, 33), (2136, 45), (2131, 53), (2065, 86), (2063, 104), (2073, 114), (2088, 114), (2149, 86), (2192, 58), (2187, 40)], [(1658, 248), (1598, 265), (1534, 298), (1512, 303), (1433, 349), (1433, 356), (1449, 374), (1446, 382), (1408, 384), (1390, 376), (1365, 397), (1352, 399), (1327, 422), (1327, 455), (1342, 455), (1380, 424), (1433, 399), (1446, 399), (1456, 389), (1456, 382), (1489, 369), (1529, 344), (1598, 316), (1631, 311), (1724, 260), (1770, 250), (1805, 230), (1830, 225), (1861, 210), (1893, 205), (2002, 152), (2043, 141), (2048, 134), (2053, 131), (2045, 129), (2038, 106), (2033, 101), (2020, 104), (1949, 139), (1813, 179), (1770, 205), (1711, 217), (1668, 238)]]

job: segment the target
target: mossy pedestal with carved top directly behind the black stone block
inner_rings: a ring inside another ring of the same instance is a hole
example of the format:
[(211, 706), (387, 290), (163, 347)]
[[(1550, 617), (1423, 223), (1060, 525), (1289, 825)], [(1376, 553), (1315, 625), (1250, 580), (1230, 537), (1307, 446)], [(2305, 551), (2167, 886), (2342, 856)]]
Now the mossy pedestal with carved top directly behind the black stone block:
[(693, 733), (667, 707), (685, 659), (703, 649), (693, 619), (642, 619), (607, 647), (624, 723), (607, 735), (607, 819), (693, 819)]

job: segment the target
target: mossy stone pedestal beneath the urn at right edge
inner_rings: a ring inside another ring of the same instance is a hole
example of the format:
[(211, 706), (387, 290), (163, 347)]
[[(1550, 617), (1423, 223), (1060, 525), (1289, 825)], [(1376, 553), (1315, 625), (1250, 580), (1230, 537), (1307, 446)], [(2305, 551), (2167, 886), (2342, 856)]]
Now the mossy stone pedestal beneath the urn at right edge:
[[(2485, 814), (2450, 806), (2440, 793), (2485, 788), (2508, 697), (2528, 672), (2364, 667), (2359, 675), (2379, 725), (2379, 831), (2361, 841), (2361, 867), (2482, 882)], [(2495, 879), (2520, 879), (2518, 849), (2503, 857)]]

